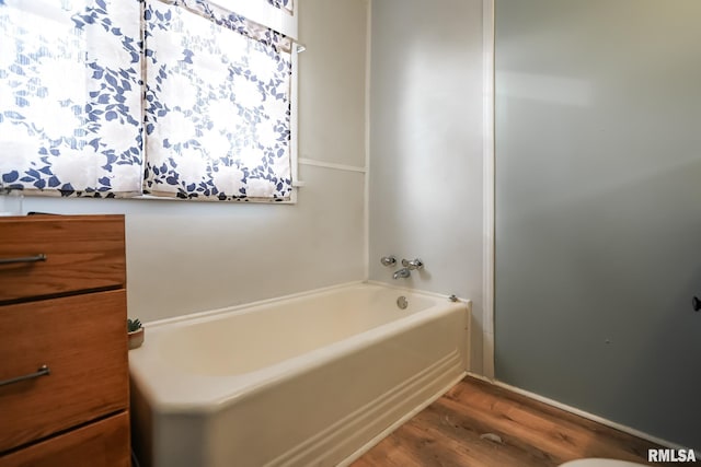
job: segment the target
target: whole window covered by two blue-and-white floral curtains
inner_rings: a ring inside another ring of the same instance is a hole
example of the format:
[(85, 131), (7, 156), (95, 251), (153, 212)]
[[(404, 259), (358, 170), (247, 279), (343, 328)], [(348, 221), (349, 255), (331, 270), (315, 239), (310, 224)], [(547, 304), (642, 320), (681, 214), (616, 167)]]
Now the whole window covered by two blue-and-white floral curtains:
[(287, 36), (204, 0), (0, 0), (0, 182), (289, 200), (290, 75)]

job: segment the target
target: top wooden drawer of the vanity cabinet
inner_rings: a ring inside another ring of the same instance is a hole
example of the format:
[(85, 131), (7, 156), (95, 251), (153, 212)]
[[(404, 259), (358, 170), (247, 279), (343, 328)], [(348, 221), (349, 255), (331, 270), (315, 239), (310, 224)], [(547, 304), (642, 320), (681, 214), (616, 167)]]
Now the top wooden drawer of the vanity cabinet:
[(0, 218), (0, 303), (126, 282), (124, 215)]

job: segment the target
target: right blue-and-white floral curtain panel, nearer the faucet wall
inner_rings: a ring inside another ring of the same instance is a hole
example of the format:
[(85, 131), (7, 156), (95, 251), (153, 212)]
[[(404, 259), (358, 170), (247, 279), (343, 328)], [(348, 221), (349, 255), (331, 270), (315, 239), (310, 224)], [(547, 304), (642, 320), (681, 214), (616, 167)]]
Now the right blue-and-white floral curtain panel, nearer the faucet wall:
[(291, 44), (203, 0), (146, 0), (145, 189), (288, 200)]

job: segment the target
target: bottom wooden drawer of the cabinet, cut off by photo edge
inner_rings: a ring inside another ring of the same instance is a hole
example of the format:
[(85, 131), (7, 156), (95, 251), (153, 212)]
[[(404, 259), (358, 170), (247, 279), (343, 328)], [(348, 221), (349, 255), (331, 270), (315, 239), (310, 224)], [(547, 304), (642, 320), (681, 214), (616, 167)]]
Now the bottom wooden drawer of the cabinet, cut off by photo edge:
[(129, 467), (126, 412), (0, 456), (0, 467)]

